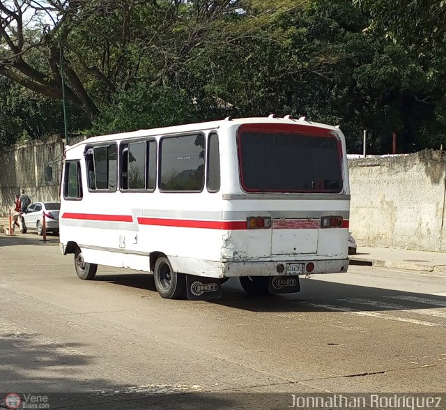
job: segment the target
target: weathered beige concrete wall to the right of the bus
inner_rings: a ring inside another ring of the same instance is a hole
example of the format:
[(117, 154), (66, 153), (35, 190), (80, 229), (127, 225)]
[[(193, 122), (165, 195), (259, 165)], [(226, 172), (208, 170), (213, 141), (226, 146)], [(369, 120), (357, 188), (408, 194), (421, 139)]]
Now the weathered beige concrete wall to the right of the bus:
[(446, 156), (349, 160), (350, 230), (358, 245), (446, 251)]

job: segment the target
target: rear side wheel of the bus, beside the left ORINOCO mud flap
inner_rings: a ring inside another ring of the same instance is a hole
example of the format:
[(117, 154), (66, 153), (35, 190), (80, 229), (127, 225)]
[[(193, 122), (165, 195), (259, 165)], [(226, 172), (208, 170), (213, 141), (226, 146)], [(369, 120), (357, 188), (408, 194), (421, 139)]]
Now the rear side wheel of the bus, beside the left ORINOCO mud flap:
[(172, 269), (169, 259), (159, 257), (153, 270), (156, 290), (162, 298), (178, 299), (185, 294), (186, 276)]

